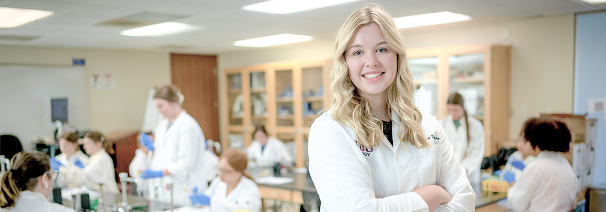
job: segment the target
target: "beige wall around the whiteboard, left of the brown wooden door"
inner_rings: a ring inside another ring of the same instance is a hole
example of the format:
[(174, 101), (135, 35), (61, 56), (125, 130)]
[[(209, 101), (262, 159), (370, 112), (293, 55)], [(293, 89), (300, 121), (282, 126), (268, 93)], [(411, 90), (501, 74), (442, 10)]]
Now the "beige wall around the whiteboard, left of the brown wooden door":
[(169, 53), (0, 46), (2, 64), (71, 65), (73, 57), (86, 59), (88, 76), (114, 75), (115, 89), (87, 91), (89, 126), (103, 133), (141, 129), (149, 89), (171, 82)]

